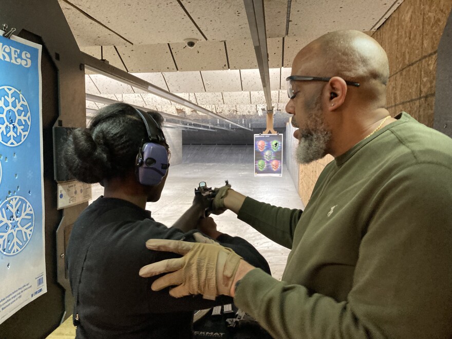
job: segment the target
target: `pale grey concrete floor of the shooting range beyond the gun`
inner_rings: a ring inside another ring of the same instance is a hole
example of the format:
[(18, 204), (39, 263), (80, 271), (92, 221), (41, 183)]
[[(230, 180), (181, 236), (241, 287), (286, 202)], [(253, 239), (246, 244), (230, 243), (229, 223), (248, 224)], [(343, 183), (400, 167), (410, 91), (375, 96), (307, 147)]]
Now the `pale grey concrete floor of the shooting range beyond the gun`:
[[(199, 159), (199, 157), (192, 159)], [(209, 159), (204, 160), (209, 161)], [(234, 190), (256, 200), (288, 208), (304, 208), (285, 166), (282, 177), (254, 177), (252, 158), (251, 161), (234, 163), (198, 163), (189, 162), (190, 160), (187, 161), (186, 158), (184, 161), (182, 164), (170, 167), (160, 200), (146, 205), (146, 209), (152, 211), (153, 218), (168, 227), (190, 207), (195, 187), (198, 187), (200, 181), (205, 181), (209, 187), (220, 187), (224, 185), (224, 180), (228, 179)], [(100, 185), (93, 185), (93, 199), (102, 193), (103, 189)], [(248, 224), (238, 220), (231, 211), (226, 211), (219, 216), (212, 215), (212, 217), (220, 232), (240, 236), (253, 244), (269, 262), (272, 275), (277, 279), (281, 278), (289, 254), (288, 249), (279, 246)]]

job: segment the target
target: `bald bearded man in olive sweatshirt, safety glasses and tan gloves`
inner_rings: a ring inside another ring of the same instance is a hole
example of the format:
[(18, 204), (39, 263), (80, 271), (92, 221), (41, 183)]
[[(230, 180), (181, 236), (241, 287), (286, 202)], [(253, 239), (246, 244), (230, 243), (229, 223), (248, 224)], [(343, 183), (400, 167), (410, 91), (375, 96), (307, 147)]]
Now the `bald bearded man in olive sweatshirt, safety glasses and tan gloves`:
[[(282, 281), (215, 244), (149, 240), (183, 255), (142, 268), (153, 289), (228, 294), (275, 338), (452, 337), (452, 139), (385, 108), (385, 51), (357, 31), (295, 57), (286, 110), (296, 157), (334, 157), (304, 211), (221, 187), (229, 209), (291, 249)], [(409, 84), (406, 84), (409, 86)], [(213, 292), (216, 291), (216, 292)]]

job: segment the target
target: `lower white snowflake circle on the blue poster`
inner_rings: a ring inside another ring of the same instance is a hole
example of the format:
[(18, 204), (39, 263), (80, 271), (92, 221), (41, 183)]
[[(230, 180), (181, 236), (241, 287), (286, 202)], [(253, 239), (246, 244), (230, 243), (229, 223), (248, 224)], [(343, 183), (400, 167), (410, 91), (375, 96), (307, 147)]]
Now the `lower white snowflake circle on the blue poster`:
[(0, 205), (0, 252), (14, 255), (28, 244), (34, 229), (34, 213), (27, 199), (12, 196)]

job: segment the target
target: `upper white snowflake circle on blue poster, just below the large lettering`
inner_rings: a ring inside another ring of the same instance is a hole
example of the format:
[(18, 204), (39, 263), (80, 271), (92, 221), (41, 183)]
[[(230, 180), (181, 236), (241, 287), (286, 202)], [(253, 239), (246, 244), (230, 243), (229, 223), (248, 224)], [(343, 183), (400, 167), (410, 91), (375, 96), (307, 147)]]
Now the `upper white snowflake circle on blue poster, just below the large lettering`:
[(27, 139), (31, 126), (28, 103), (20, 91), (0, 86), (0, 142), (14, 147)]

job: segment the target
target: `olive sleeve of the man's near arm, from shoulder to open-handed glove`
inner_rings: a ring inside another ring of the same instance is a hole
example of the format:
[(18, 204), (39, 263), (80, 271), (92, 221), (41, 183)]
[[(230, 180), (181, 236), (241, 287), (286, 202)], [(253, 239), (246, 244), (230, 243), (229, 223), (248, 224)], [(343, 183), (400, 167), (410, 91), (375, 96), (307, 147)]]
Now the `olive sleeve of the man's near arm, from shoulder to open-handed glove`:
[(369, 197), (374, 213), (344, 302), (254, 269), (240, 281), (236, 306), (276, 338), (450, 337), (450, 178), (450, 168), (423, 163)]

